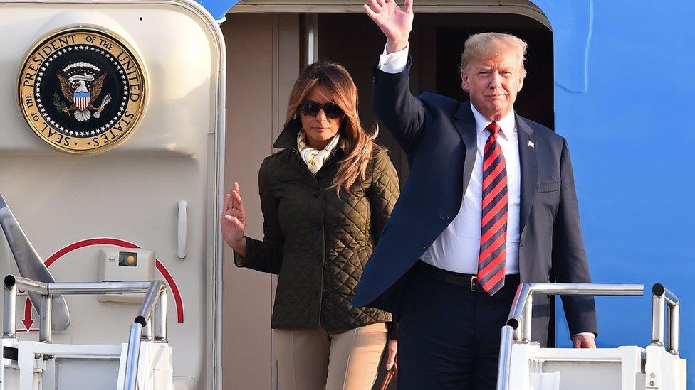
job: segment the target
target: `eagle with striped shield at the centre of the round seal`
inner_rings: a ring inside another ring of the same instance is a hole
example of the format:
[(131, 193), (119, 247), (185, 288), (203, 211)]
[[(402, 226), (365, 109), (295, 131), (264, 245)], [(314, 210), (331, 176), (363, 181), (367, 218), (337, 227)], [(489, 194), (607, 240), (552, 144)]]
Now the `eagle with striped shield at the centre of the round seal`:
[(58, 94), (53, 96), (53, 104), (61, 112), (68, 115), (72, 113), (80, 122), (87, 121), (92, 116), (99, 118), (106, 104), (111, 101), (111, 95), (106, 94), (98, 107), (95, 107), (106, 78), (106, 72), (101, 72), (96, 65), (72, 63), (57, 72), (57, 77), (61, 82), (63, 97), (70, 104), (63, 102)]

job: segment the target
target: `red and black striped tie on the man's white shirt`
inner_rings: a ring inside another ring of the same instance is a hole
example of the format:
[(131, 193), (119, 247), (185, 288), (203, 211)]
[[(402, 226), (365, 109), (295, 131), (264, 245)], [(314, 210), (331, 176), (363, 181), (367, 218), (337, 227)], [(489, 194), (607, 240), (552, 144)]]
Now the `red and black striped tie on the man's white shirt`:
[(478, 283), (488, 294), (493, 295), (504, 286), (507, 169), (502, 148), (497, 143), (500, 126), (492, 122), (485, 129), (491, 134), (483, 152), (483, 212), (478, 256)]

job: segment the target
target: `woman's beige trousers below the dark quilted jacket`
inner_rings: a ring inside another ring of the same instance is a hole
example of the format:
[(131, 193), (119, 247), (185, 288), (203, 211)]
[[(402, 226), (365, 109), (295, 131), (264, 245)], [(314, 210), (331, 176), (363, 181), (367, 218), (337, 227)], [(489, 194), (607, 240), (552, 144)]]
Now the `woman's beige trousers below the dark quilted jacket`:
[(283, 390), (370, 390), (386, 345), (386, 324), (346, 332), (273, 330)]

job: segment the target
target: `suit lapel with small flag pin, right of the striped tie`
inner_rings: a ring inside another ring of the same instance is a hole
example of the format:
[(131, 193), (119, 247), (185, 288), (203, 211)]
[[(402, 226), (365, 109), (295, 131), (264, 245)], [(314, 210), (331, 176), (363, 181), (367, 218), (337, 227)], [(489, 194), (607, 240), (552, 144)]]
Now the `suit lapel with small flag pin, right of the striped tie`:
[(519, 234), (523, 233), (528, 215), (531, 214), (536, 181), (538, 180), (538, 155), (535, 151), (533, 129), (516, 115), (519, 137), (519, 163), (521, 166), (521, 212), (519, 214)]

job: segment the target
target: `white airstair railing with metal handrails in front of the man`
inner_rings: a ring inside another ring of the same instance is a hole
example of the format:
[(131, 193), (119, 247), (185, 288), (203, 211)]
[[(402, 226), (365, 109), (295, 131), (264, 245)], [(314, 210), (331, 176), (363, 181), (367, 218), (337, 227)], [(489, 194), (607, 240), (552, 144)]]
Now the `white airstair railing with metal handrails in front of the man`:
[(652, 342), (646, 347), (542, 348), (531, 341), (534, 294), (642, 296), (644, 286), (521, 284), (502, 330), (497, 390), (686, 390), (686, 360), (678, 351), (679, 300), (661, 284), (652, 288)]

